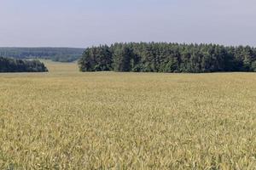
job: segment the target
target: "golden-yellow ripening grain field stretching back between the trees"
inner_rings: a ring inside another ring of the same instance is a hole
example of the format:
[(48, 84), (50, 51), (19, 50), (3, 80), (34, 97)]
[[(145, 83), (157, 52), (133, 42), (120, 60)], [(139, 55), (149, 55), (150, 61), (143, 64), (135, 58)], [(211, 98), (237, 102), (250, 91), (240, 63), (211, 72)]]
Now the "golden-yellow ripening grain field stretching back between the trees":
[(256, 169), (253, 73), (0, 75), (0, 169)]

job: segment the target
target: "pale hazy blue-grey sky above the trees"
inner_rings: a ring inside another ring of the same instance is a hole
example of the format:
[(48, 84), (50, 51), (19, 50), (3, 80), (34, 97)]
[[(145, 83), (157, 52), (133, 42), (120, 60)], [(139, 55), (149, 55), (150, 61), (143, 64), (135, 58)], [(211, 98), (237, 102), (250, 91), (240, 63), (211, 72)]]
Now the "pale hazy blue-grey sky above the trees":
[(0, 0), (0, 47), (113, 42), (256, 47), (255, 0)]

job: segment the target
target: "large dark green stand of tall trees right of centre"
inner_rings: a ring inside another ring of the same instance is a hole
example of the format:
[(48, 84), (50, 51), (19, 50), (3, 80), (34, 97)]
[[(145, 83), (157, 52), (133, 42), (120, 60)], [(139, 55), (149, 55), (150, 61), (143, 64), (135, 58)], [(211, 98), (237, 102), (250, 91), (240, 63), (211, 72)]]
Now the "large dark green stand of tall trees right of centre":
[(114, 43), (87, 48), (80, 71), (256, 71), (256, 48), (166, 42)]

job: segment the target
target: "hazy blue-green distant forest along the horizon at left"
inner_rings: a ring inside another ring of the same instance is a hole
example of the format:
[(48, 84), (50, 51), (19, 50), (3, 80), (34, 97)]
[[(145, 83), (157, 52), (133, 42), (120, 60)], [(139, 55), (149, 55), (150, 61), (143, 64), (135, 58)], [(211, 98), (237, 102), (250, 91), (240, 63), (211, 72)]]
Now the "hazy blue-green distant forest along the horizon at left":
[(83, 48), (0, 48), (0, 56), (15, 59), (51, 59), (73, 62), (81, 57)]

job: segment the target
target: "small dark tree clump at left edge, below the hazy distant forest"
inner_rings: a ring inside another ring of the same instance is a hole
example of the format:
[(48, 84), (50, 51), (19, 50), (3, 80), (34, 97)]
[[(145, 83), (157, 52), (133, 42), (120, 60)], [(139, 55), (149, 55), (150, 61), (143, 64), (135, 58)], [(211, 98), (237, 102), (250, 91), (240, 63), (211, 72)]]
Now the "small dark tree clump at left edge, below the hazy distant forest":
[(44, 63), (38, 60), (10, 59), (0, 57), (0, 72), (45, 72)]

